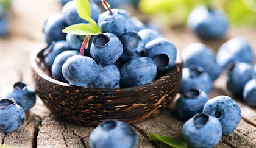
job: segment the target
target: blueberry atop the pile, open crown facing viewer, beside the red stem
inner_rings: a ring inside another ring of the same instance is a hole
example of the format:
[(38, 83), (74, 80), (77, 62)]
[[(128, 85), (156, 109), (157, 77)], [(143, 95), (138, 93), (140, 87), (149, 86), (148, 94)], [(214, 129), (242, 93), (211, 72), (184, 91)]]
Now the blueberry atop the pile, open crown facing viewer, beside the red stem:
[(91, 56), (97, 63), (113, 64), (121, 57), (123, 45), (112, 33), (99, 33), (91, 44)]

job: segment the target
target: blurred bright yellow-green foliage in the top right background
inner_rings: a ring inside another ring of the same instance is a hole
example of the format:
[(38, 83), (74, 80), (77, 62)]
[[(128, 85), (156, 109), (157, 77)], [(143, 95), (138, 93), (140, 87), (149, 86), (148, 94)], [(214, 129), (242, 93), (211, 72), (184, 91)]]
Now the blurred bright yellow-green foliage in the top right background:
[(256, 25), (256, 0), (140, 0), (138, 9), (162, 24), (180, 26), (185, 25), (187, 16), (198, 5), (224, 9), (232, 25)]

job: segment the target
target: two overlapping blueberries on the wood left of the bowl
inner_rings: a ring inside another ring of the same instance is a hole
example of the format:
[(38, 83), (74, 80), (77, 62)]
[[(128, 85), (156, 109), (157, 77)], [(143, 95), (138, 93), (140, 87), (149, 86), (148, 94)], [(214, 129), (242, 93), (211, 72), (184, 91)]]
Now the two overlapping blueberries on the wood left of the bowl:
[(18, 130), (26, 119), (26, 111), (35, 105), (35, 92), (23, 82), (7, 87), (0, 97), (0, 132)]

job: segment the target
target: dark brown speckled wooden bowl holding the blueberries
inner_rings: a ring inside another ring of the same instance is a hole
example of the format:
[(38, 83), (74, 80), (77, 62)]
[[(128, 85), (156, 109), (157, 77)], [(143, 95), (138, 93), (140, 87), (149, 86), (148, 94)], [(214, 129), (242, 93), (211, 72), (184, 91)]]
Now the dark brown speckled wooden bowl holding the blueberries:
[(61, 119), (81, 125), (98, 125), (112, 118), (133, 123), (158, 115), (179, 92), (182, 60), (158, 79), (140, 86), (121, 89), (71, 86), (52, 79), (44, 65), (44, 49), (30, 55), (35, 91), (46, 107)]

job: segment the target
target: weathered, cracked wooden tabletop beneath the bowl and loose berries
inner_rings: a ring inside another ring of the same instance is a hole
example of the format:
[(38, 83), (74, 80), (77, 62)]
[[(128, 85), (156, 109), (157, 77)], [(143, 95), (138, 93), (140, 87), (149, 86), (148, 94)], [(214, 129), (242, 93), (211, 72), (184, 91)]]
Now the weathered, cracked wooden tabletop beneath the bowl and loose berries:
[[(29, 56), (32, 51), (43, 48), (42, 32), (46, 18), (59, 13), (58, 0), (13, 0), (9, 35), (0, 38), (0, 93), (6, 86), (23, 81), (34, 86), (31, 77)], [(168, 29), (163, 32), (176, 47), (182, 49), (190, 43), (201, 42), (217, 51), (222, 43), (232, 37), (244, 37), (256, 53), (256, 27), (230, 27), (222, 40), (202, 41), (184, 28)], [(225, 77), (214, 83), (210, 97), (232, 96), (226, 90)], [(230, 135), (223, 136), (216, 147), (256, 147), (256, 109), (233, 97), (240, 105), (242, 120)], [(181, 138), (183, 122), (173, 110), (173, 103), (159, 116), (132, 124), (138, 134), (137, 147), (168, 147), (149, 141), (149, 133)], [(85, 127), (63, 122), (48, 110), (40, 98), (30, 110), (24, 124), (12, 133), (0, 132), (0, 147), (89, 147), (88, 136), (94, 127)]]

